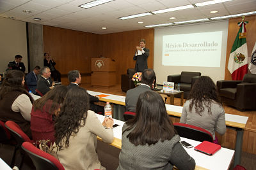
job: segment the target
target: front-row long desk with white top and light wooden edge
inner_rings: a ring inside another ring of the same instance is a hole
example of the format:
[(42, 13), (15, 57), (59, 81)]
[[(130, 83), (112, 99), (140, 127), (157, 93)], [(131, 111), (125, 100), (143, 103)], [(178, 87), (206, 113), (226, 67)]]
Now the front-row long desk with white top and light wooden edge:
[[(100, 92), (93, 92), (89, 91), (89, 94), (93, 95), (99, 95), (99, 94), (104, 94)], [(109, 95), (108, 97), (104, 97), (104, 101), (109, 101), (111, 103), (118, 104), (120, 103), (119, 106), (125, 106), (125, 97), (124, 96), (117, 96), (117, 95), (112, 95), (112, 94), (107, 94)], [(102, 98), (100, 98), (100, 101), (102, 101)], [(166, 110), (169, 116), (171, 117), (181, 117), (182, 113), (182, 106), (175, 106), (171, 104), (165, 104)], [(114, 108), (115, 109), (115, 108)], [(234, 131), (237, 132), (236, 134), (236, 146), (235, 146), (235, 156), (234, 156), (234, 166), (237, 164), (241, 163), (241, 153), (242, 153), (242, 146), (243, 146), (243, 134), (244, 134), (244, 128), (246, 126), (246, 122), (248, 120), (248, 117), (243, 117), (239, 115), (231, 115), (228, 113), (225, 113), (225, 120), (226, 120), (226, 126), (229, 129), (234, 129)]]

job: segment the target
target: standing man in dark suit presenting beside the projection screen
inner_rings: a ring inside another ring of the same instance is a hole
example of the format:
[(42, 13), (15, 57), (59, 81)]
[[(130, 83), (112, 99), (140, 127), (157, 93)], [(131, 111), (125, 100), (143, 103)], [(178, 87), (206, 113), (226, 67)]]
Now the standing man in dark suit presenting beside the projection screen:
[(140, 46), (136, 46), (136, 53), (133, 60), (136, 60), (135, 72), (143, 72), (144, 69), (148, 68), (148, 55), (149, 50), (145, 48), (145, 39), (140, 39)]

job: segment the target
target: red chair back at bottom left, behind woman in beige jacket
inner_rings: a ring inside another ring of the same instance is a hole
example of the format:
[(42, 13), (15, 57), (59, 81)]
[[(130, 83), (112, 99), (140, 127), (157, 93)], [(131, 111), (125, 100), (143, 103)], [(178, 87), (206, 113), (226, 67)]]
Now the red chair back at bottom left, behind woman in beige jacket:
[(36, 170), (64, 170), (64, 167), (58, 159), (36, 148), (32, 143), (24, 142), (21, 148), (29, 155)]

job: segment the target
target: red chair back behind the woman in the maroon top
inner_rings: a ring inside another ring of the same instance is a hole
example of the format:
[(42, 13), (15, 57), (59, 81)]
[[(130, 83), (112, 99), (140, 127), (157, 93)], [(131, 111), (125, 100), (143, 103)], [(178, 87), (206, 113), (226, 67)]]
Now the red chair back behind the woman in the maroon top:
[(19, 125), (12, 120), (5, 122), (5, 127), (11, 132), (13, 138), (15, 138), (15, 141), (17, 141), (19, 146), (21, 146), (24, 141), (33, 143), (33, 141), (29, 139), (28, 135), (26, 135), (22, 129), (20, 129)]

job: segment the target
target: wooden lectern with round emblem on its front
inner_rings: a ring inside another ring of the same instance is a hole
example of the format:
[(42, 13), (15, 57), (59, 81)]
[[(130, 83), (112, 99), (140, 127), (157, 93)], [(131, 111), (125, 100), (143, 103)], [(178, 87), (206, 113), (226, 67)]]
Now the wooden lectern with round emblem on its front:
[(92, 85), (116, 84), (116, 63), (110, 58), (92, 58)]

